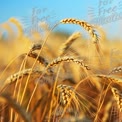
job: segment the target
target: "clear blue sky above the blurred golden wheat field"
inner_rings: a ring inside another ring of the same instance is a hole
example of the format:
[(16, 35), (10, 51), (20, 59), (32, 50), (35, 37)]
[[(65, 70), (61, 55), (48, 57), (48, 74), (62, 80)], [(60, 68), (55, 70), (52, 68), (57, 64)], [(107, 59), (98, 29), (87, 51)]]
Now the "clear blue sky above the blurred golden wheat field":
[[(100, 19), (104, 21), (104, 18), (107, 16), (122, 13), (120, 8), (121, 2), (122, 0), (1, 0), (0, 23), (7, 21), (11, 17), (16, 17), (25, 25), (31, 24), (34, 8), (38, 19), (44, 19), (44, 17), (47, 17), (47, 20), (49, 20), (49, 22), (51, 21), (50, 23), (68, 17), (91, 22), (89, 16), (98, 18), (100, 14), (103, 20)], [(115, 7), (116, 9), (114, 10)], [(108, 32), (108, 35), (111, 35), (113, 30), (115, 30), (112, 35), (114, 37), (120, 37), (122, 34), (118, 31), (121, 31), (122, 28), (121, 19), (99, 24)], [(92, 23), (96, 24), (94, 21), (92, 21)], [(60, 26), (59, 29), (67, 31), (80, 30), (78, 26), (74, 25), (63, 25)]]

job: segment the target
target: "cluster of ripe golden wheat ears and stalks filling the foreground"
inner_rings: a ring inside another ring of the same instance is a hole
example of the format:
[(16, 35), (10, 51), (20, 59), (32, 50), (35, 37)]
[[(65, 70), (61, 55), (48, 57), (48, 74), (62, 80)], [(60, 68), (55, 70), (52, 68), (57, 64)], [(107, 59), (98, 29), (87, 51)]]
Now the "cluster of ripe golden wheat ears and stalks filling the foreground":
[[(15, 18), (9, 21), (19, 28), (21, 40), (20, 23)], [(79, 25), (90, 41), (82, 41), (81, 33), (75, 32), (57, 48), (56, 36), (49, 38), (59, 24)], [(111, 70), (105, 64), (105, 38), (97, 30), (86, 21), (66, 18), (18, 56), (19, 70), (6, 76), (0, 87), (0, 122), (121, 122), (122, 67)], [(16, 67), (14, 61), (1, 71), (1, 79), (12, 64)]]

